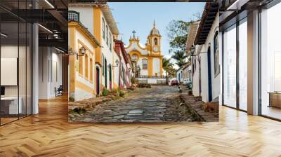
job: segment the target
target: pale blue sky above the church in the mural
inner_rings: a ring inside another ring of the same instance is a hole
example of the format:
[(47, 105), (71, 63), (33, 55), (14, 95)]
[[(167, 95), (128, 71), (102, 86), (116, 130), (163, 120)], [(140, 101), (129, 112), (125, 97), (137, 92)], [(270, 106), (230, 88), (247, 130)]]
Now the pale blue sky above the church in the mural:
[(155, 20), (156, 27), (162, 35), (161, 45), (164, 57), (171, 57), (166, 32), (169, 22), (171, 20), (194, 20), (196, 19), (194, 14), (200, 13), (202, 15), (204, 9), (204, 3), (198, 2), (111, 2), (108, 5), (115, 22), (117, 22), (120, 38), (126, 46), (129, 44), (133, 30), (136, 31), (136, 36), (139, 36), (141, 45), (144, 46), (153, 27), (153, 20)]

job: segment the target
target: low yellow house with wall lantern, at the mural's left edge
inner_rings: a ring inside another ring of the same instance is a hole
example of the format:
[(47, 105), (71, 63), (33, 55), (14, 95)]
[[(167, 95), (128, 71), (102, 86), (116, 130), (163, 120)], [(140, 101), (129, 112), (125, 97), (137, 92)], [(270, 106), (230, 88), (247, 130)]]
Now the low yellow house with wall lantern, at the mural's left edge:
[(71, 15), (69, 20), (68, 43), (70, 53), (73, 53), (69, 56), (69, 97), (77, 101), (97, 94), (94, 67), (96, 48), (100, 43), (79, 20), (72, 19)]

